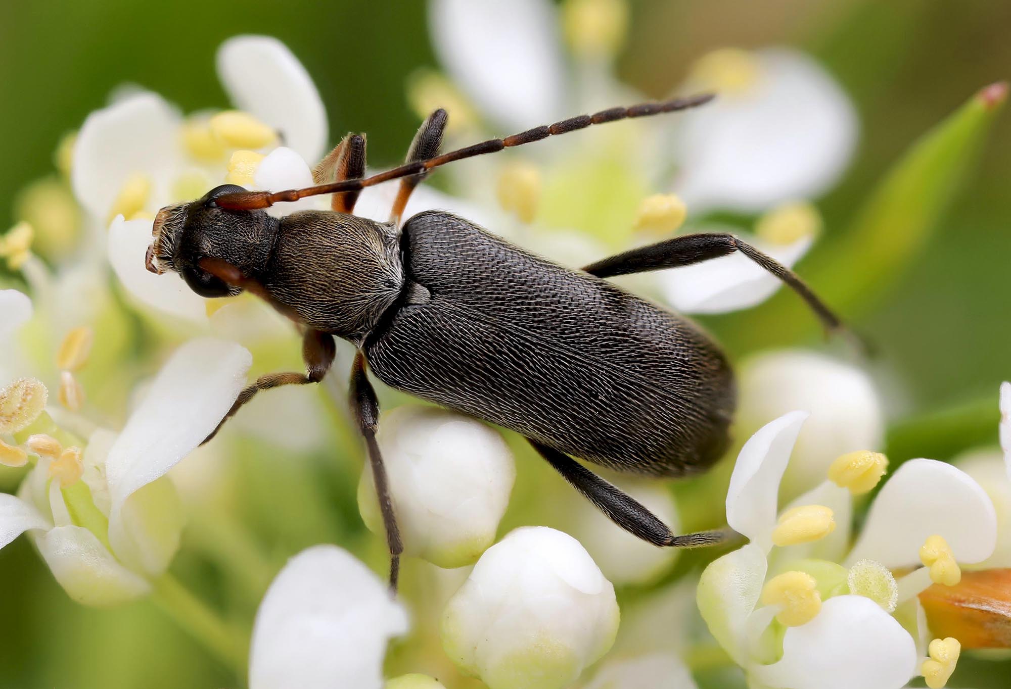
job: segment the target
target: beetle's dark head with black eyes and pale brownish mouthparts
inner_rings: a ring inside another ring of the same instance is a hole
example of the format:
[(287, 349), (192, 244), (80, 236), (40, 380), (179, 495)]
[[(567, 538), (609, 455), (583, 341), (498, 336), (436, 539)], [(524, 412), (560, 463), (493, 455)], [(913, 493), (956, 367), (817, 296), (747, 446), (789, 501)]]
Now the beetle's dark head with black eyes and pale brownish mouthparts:
[(263, 270), (269, 258), (277, 220), (262, 210), (226, 210), (214, 199), (245, 191), (234, 184), (211, 189), (203, 197), (166, 206), (152, 228), (154, 241), (146, 264), (152, 273), (179, 273), (201, 297), (226, 297), (242, 290), (226, 284), (199, 266), (204, 258), (221, 259), (245, 275)]

